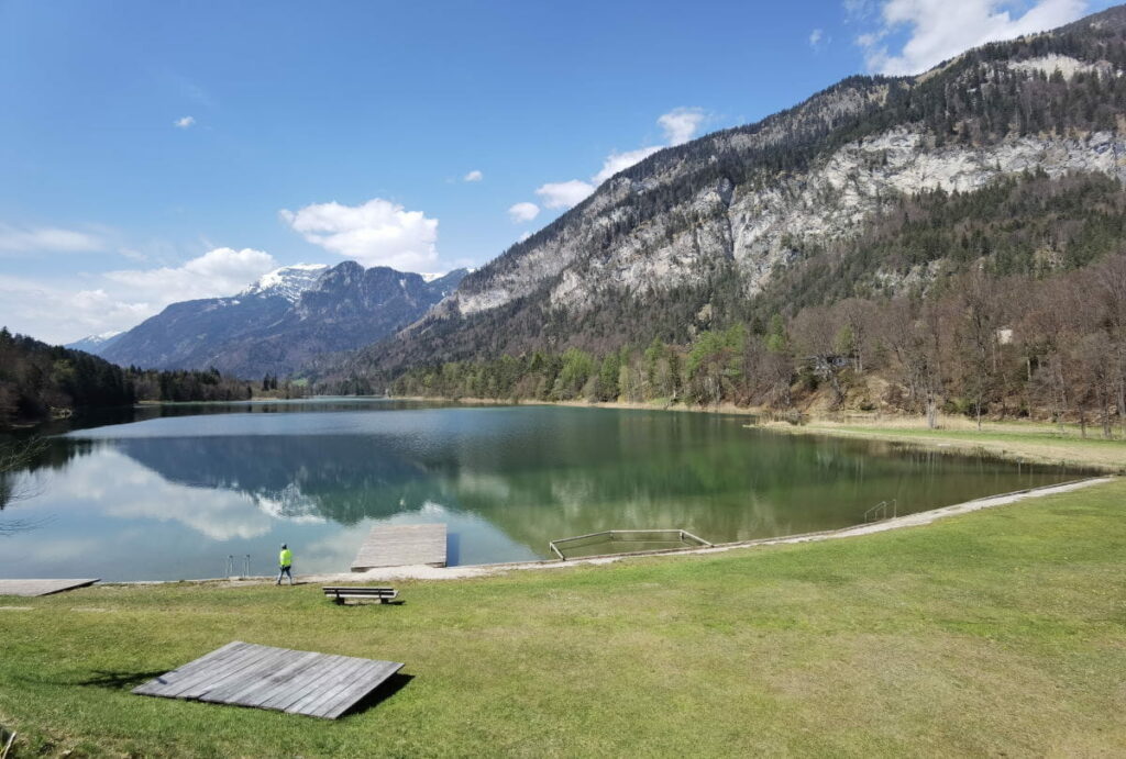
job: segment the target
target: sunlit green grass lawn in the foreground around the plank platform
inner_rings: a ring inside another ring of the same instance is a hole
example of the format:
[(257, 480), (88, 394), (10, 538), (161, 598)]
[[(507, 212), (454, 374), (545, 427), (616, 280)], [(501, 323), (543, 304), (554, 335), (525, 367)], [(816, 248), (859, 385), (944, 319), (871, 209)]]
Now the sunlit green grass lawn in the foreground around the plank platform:
[[(404, 582), (0, 598), (18, 756), (1126, 749), (1126, 482), (861, 539)], [(100, 609), (100, 611), (96, 611)], [(406, 662), (338, 722), (132, 696), (231, 640)]]

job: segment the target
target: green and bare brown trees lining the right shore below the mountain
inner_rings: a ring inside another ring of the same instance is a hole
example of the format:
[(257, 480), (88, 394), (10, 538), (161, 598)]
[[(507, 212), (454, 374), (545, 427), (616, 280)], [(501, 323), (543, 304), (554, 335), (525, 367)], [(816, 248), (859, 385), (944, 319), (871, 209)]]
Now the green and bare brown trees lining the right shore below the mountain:
[(536, 350), (408, 370), (396, 396), (854, 409), (1048, 421), (1126, 434), (1126, 253), (1048, 278), (974, 270), (927, 295), (847, 298), (793, 316), (598, 352)]

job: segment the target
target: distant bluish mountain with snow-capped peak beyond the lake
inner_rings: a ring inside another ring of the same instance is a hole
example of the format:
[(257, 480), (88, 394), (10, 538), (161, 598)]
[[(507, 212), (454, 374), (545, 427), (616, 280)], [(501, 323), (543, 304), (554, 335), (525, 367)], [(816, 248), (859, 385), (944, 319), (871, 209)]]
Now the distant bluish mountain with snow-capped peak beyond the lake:
[(285, 376), (320, 353), (393, 334), (453, 292), (464, 275), (457, 270), (428, 282), (354, 261), (286, 266), (229, 298), (172, 304), (98, 352), (120, 365)]

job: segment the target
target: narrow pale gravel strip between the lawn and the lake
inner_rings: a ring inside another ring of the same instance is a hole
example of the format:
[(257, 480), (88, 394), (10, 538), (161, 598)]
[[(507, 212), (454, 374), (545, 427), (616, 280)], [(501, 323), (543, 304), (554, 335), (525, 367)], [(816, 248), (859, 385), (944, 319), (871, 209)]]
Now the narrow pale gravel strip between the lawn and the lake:
[[(568, 567), (609, 564), (618, 561), (627, 561), (629, 559), (638, 557), (690, 557), (704, 553), (722, 553), (724, 551), (751, 549), (751, 548), (758, 548), (760, 545), (812, 543), (824, 540), (838, 540), (842, 537), (857, 537), (860, 535), (870, 535), (878, 532), (886, 532), (888, 530), (901, 530), (903, 527), (918, 527), (930, 524), (932, 522), (937, 522), (938, 519), (944, 519), (950, 516), (957, 516), (959, 514), (969, 514), (972, 512), (978, 512), (983, 508), (1004, 506), (1007, 504), (1015, 504), (1017, 502), (1027, 500), (1029, 498), (1039, 498), (1042, 496), (1052, 496), (1058, 493), (1069, 493), (1071, 490), (1089, 488), (1097, 485), (1112, 482), (1115, 479), (1117, 478), (1092, 477), (1084, 480), (1076, 480), (1074, 482), (1048, 485), (1039, 488), (1030, 488), (1027, 490), (1017, 490), (1015, 493), (1006, 493), (997, 496), (988, 496), (985, 498), (967, 500), (965, 503), (955, 504), (953, 506), (942, 506), (940, 508), (932, 508), (928, 512), (908, 514), (905, 516), (883, 519), (881, 522), (872, 522), (868, 524), (859, 524), (851, 527), (842, 527), (840, 530), (826, 530), (824, 532), (805, 533), (801, 535), (784, 535), (779, 537), (761, 537), (758, 540), (740, 541), (735, 543), (717, 543), (711, 548), (686, 548), (686, 549), (667, 549), (662, 551), (640, 551), (635, 553), (618, 553), (615, 555), (593, 557), (590, 559), (571, 559), (568, 561), (560, 561), (557, 559), (545, 559), (542, 561), (525, 561), (525, 562), (511, 562), (511, 563), (467, 564), (464, 567), (427, 567), (427, 566), (381, 567), (377, 569), (369, 569), (366, 572), (298, 575), (295, 579), (298, 584), (303, 585), (304, 584), (363, 585), (372, 582), (388, 582), (393, 580), (456, 580), (456, 579), (465, 579), (473, 577), (492, 577), (497, 575), (503, 575), (510, 571), (522, 571), (528, 569), (566, 569)], [(238, 579), (215, 578), (207, 580), (168, 580), (168, 581), (211, 582), (234, 588), (234, 587), (244, 587), (251, 585), (263, 585), (267, 582), (272, 582), (275, 581), (275, 577), (260, 576), (260, 577), (245, 577)], [(164, 582), (166, 581), (162, 580), (155, 580), (155, 581), (148, 580), (148, 581), (134, 581), (134, 582), (100, 582), (95, 587), (122, 586), (122, 585), (126, 586), (162, 585)]]

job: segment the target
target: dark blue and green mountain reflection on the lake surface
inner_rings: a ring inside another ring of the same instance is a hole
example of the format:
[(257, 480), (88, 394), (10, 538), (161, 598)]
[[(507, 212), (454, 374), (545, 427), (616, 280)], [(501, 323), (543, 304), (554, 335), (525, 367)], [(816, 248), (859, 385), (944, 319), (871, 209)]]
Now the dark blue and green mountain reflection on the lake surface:
[(856, 523), (883, 499), (920, 510), (1060, 478), (883, 443), (756, 434), (715, 417), (525, 408), (440, 418), (372, 434), (113, 444), (170, 481), (245, 493), (278, 516), (355, 524), (434, 503), (537, 551), (613, 528), (685, 527), (711, 540), (821, 530)]

